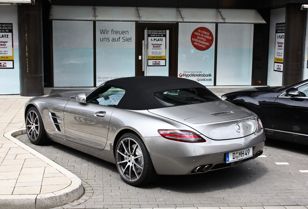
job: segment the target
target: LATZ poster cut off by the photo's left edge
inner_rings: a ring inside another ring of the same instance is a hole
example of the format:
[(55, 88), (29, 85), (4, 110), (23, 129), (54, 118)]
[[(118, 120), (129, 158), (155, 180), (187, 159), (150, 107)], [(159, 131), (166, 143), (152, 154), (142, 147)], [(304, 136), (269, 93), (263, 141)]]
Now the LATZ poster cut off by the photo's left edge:
[(0, 68), (14, 68), (13, 23), (0, 23)]

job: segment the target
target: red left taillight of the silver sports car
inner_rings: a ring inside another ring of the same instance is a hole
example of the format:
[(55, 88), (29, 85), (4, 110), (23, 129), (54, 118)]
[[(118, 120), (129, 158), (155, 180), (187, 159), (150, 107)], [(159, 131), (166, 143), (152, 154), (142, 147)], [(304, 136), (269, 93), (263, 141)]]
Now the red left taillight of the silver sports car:
[(198, 143), (206, 142), (204, 138), (200, 135), (186, 130), (158, 130), (158, 133), (169, 140), (188, 142), (188, 143)]

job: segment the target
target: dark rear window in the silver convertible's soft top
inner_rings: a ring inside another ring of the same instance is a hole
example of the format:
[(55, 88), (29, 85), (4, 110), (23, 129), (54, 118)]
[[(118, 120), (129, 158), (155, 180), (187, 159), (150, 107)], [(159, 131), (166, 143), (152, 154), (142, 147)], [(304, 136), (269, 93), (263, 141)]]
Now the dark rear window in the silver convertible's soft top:
[(155, 92), (154, 96), (165, 106), (198, 104), (219, 100), (215, 94), (205, 88), (164, 90)]

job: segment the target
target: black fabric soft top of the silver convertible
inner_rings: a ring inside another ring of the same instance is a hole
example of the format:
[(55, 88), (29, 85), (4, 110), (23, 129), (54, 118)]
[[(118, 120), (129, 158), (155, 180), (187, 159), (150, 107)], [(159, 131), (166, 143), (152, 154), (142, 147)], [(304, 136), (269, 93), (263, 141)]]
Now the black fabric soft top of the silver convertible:
[(117, 108), (146, 110), (166, 107), (154, 96), (154, 92), (183, 88), (205, 88), (196, 81), (167, 76), (124, 77), (107, 81), (104, 86), (114, 86), (125, 90)]

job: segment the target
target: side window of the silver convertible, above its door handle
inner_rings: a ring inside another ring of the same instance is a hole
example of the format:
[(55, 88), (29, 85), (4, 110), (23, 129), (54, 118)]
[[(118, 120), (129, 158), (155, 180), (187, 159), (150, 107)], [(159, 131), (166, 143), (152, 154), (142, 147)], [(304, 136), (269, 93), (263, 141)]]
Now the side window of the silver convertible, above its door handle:
[(103, 86), (102, 88), (92, 92), (88, 96), (89, 98), (87, 98), (87, 102), (104, 106), (116, 107), (124, 94), (125, 90), (121, 88)]

